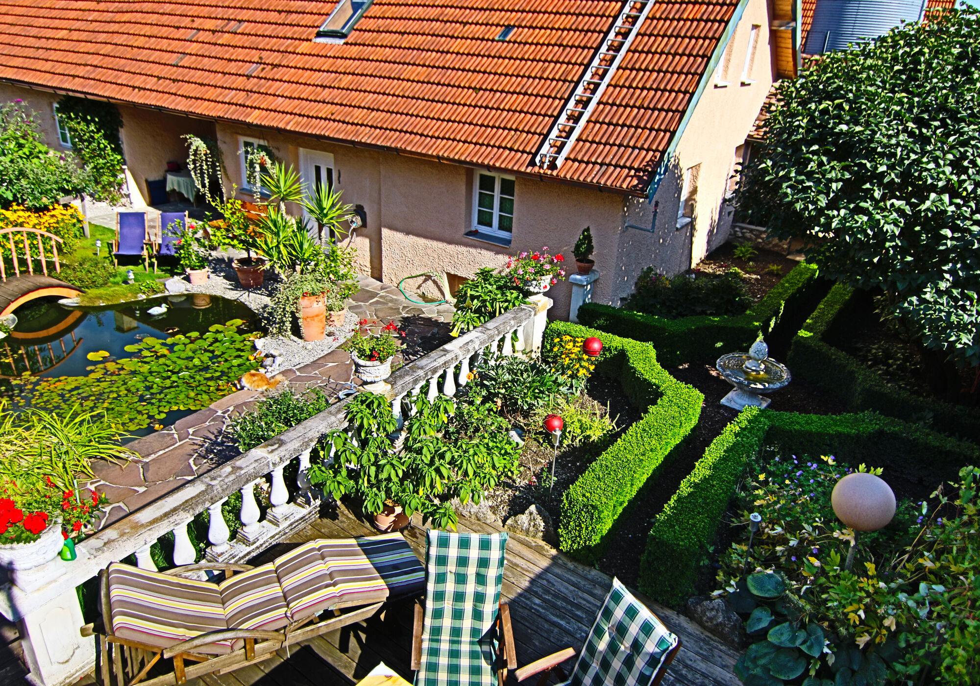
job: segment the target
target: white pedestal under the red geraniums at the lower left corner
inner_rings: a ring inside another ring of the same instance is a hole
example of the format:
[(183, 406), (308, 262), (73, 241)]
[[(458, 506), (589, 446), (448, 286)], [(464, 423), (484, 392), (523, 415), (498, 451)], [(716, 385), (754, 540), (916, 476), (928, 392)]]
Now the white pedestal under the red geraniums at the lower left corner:
[(74, 587), (18, 622), (30, 669), (27, 681), (34, 686), (67, 686), (91, 671), (95, 639), (78, 631), (84, 623)]

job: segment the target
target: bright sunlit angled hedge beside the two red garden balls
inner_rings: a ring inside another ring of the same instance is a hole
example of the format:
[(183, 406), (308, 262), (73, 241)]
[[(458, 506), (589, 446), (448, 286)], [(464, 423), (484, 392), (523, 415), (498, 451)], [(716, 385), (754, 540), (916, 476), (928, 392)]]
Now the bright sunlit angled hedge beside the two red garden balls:
[(554, 321), (545, 331), (544, 349), (564, 334), (601, 339), (603, 352), (596, 373), (618, 379), (630, 403), (645, 409), (643, 417), (596, 458), (562, 498), (561, 548), (591, 564), (606, 550), (623, 509), (697, 425), (705, 396), (663, 369), (649, 343)]

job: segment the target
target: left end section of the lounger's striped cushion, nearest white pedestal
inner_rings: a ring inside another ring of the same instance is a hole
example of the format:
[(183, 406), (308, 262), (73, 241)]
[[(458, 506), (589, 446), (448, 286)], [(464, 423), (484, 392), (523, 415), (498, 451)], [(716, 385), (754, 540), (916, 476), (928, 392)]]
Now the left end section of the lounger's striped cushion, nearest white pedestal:
[[(209, 631), (227, 628), (221, 593), (207, 581), (168, 576), (128, 564), (109, 565), (113, 635), (166, 648)], [(224, 655), (222, 642), (201, 653)]]

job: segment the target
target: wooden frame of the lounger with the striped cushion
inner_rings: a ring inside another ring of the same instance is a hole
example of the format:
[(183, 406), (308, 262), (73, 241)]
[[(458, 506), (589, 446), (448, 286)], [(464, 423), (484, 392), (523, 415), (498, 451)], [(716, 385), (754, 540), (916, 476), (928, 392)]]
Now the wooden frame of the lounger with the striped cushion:
[[(181, 576), (200, 571), (223, 571), (231, 576), (236, 571), (247, 571), (253, 567), (250, 564), (202, 563), (186, 564), (169, 569), (164, 574)], [(276, 631), (256, 629), (226, 629), (201, 634), (187, 641), (174, 644), (168, 648), (152, 646), (140, 641), (114, 636), (112, 633), (112, 616), (109, 603), (109, 575), (105, 569), (99, 572), (102, 598), (102, 619), (93, 624), (81, 627), (82, 636), (99, 637), (98, 653), (95, 663), (95, 679), (100, 686), (180, 686), (188, 679), (194, 679), (206, 674), (218, 672), (225, 674), (240, 667), (255, 664), (270, 659), (277, 650), (301, 641), (319, 636), (328, 631), (339, 629), (348, 624), (367, 619), (377, 613), (387, 601), (374, 603), (363, 607), (363, 603), (338, 603), (330, 610), (334, 616), (319, 620), (307, 626), (316, 616), (311, 615), (300, 621)], [(394, 600), (394, 599), (393, 599)], [(358, 608), (351, 613), (341, 614), (339, 611), (348, 608)], [(324, 611), (325, 612), (325, 611)], [(227, 655), (204, 655), (198, 651), (204, 646), (216, 641), (244, 640), (244, 646)], [(110, 655), (111, 654), (111, 655)], [(161, 659), (172, 660), (173, 670), (163, 676), (157, 676), (143, 681)], [(187, 664), (187, 662), (194, 662)], [(115, 682), (113, 680), (115, 676)]]

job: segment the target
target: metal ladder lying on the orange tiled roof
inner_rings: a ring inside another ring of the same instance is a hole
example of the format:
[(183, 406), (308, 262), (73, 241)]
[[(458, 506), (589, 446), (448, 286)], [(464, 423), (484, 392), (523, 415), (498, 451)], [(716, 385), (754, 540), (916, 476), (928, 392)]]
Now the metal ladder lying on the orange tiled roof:
[(562, 164), (653, 5), (654, 0), (626, 0), (623, 4), (592, 62), (575, 84), (562, 113), (535, 153), (534, 162), (538, 167), (554, 170)]

